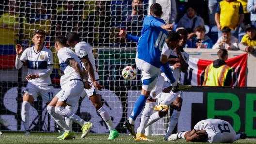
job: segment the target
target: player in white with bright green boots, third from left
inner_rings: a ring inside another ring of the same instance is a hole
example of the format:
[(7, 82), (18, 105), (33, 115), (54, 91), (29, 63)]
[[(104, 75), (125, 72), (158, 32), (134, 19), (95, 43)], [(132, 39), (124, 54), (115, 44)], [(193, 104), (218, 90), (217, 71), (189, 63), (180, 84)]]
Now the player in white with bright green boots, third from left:
[(76, 54), (82, 60), (83, 68), (89, 73), (88, 81), (92, 84), (92, 87), (90, 89), (85, 89), (85, 92), (90, 97), (95, 109), (109, 127), (110, 135), (108, 140), (113, 140), (119, 136), (119, 133), (115, 130), (108, 111), (101, 103), (99, 90), (101, 90), (103, 86), (99, 85), (99, 75), (96, 72), (93, 47), (85, 41), (81, 41), (76, 32), (71, 32), (67, 35), (67, 44), (75, 48)]

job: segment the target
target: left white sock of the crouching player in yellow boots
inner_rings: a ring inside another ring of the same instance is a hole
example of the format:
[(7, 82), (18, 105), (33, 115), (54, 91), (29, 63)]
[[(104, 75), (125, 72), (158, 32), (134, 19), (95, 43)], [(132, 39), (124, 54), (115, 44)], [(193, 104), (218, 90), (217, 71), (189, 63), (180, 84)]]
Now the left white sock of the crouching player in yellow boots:
[(55, 112), (54, 106), (48, 105), (47, 111), (51, 115), (51, 117), (56, 121), (56, 123), (63, 128), (63, 130), (65, 130), (66, 132), (72, 132), (72, 129), (70, 129), (68, 125), (65, 123), (63, 116)]

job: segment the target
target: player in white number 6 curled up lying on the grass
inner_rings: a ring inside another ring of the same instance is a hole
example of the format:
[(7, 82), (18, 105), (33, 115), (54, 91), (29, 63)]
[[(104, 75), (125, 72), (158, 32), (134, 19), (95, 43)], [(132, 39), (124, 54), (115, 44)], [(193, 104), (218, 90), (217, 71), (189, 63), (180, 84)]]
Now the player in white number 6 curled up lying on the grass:
[(236, 134), (229, 122), (221, 119), (206, 119), (199, 121), (194, 129), (172, 134), (168, 141), (186, 139), (187, 142), (233, 143), (245, 139), (245, 133)]

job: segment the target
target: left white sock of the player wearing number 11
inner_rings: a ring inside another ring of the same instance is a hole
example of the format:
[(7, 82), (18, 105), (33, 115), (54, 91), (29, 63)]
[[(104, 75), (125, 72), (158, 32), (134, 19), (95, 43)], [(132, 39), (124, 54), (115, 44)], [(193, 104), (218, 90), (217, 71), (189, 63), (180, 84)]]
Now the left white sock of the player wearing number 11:
[(21, 109), (21, 119), (23, 121), (25, 130), (29, 130), (29, 109), (30, 103), (28, 101), (23, 101)]

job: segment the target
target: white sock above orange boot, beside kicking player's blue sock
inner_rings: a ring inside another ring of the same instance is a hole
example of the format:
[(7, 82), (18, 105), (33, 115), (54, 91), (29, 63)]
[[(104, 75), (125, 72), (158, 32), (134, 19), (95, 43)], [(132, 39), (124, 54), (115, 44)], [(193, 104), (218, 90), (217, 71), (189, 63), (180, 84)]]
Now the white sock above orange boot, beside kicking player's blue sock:
[(147, 102), (144, 110), (142, 111), (141, 124), (137, 129), (137, 133), (144, 134), (146, 125), (149, 121), (150, 115), (152, 115), (153, 107), (156, 105), (156, 102)]

